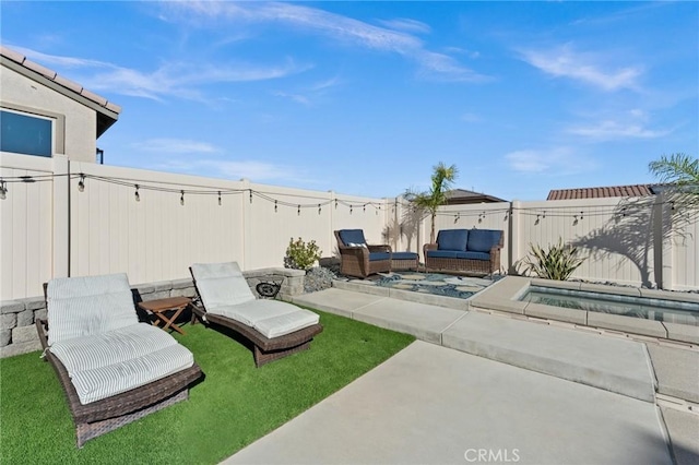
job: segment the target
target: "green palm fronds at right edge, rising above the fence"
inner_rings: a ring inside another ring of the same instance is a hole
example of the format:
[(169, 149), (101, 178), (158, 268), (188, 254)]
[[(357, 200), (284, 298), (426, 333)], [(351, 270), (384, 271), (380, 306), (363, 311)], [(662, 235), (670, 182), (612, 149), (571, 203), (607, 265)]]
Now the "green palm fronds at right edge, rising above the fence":
[(685, 154), (663, 155), (648, 165), (661, 182), (671, 186), (675, 206), (692, 208), (699, 206), (699, 158)]

